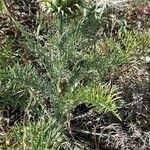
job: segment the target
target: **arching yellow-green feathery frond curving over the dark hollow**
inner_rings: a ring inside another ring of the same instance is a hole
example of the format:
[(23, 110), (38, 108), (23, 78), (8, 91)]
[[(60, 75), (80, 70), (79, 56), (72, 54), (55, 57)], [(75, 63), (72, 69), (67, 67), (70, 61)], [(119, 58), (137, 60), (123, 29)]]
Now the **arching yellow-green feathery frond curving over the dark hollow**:
[(109, 84), (89, 85), (87, 87), (77, 87), (74, 92), (68, 92), (58, 104), (60, 112), (68, 113), (74, 106), (79, 104), (91, 104), (99, 111), (112, 112), (121, 120), (117, 112), (115, 101), (120, 99), (120, 92), (116, 87)]

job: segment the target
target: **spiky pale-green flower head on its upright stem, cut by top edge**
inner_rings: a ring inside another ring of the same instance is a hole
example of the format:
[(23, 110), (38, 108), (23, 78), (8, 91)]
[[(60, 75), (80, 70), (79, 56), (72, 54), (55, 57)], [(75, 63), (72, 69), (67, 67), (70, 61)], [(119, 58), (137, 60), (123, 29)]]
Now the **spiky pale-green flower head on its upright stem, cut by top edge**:
[[(75, 15), (85, 8), (84, 0), (41, 0), (41, 7), (47, 13), (52, 13), (58, 16), (60, 20), (60, 36), (63, 33), (63, 21), (65, 16)], [(62, 42), (60, 47), (62, 48)]]

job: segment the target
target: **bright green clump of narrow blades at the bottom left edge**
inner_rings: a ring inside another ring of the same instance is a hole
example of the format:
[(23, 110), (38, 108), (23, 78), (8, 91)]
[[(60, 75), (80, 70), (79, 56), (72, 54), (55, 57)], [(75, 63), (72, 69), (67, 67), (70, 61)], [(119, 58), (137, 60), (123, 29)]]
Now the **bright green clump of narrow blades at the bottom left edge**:
[(8, 149), (61, 149), (66, 144), (63, 128), (54, 118), (15, 125), (4, 137)]

